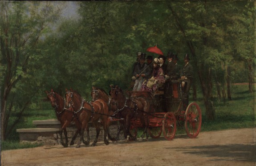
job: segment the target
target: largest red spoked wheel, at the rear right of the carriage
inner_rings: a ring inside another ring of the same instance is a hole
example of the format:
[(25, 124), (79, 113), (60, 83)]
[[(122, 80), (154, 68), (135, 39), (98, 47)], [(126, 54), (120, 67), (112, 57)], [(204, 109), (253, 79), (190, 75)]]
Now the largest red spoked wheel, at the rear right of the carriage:
[(197, 103), (190, 103), (185, 113), (185, 129), (190, 138), (196, 138), (202, 125), (202, 112)]

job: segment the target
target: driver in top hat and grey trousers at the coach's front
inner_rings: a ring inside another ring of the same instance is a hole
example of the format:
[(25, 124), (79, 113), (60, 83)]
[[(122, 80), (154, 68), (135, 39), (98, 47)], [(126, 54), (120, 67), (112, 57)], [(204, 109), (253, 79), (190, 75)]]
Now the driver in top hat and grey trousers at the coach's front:
[(150, 71), (148, 65), (145, 63), (146, 54), (142, 53), (140, 57), (140, 63), (134, 68), (133, 77), (135, 77), (135, 84), (133, 91), (140, 91), (142, 83), (148, 78)]

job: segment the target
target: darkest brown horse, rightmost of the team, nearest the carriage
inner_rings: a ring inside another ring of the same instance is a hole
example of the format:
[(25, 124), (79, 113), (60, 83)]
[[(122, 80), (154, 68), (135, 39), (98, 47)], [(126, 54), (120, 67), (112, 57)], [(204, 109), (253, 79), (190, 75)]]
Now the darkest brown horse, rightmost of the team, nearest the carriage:
[[(118, 107), (118, 114), (125, 118), (125, 137), (128, 141), (127, 135), (130, 135), (130, 121), (140, 119), (142, 125), (145, 127), (140, 140), (143, 139), (144, 134), (146, 134), (146, 141), (148, 140), (149, 134), (147, 129), (149, 127), (148, 115), (154, 113), (154, 101), (151, 97), (145, 96), (130, 96), (130, 99), (126, 99), (122, 89), (118, 86), (110, 86), (110, 96), (112, 99), (116, 100)], [(130, 135), (131, 136), (131, 135)], [(134, 138), (132, 138), (134, 139)]]

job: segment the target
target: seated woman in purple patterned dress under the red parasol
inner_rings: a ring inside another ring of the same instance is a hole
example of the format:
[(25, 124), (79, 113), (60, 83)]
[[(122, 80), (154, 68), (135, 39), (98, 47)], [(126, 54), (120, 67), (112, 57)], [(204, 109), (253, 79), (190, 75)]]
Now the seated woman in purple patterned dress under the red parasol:
[(154, 70), (153, 75), (150, 79), (145, 80), (142, 83), (141, 91), (156, 91), (157, 83), (165, 83), (163, 69), (159, 66), (160, 60), (154, 59)]

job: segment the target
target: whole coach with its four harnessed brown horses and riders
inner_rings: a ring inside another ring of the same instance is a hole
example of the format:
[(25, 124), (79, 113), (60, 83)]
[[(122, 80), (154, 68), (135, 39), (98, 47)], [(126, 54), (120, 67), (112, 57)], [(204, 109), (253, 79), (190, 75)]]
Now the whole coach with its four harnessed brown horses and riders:
[[(140, 62), (143, 62), (145, 55), (142, 54)], [(171, 56), (175, 60), (175, 55), (171, 54)], [(185, 68), (189, 67), (187, 59), (189, 60), (189, 57), (185, 55)], [(82, 99), (81, 95), (72, 88), (65, 90), (65, 99), (53, 90), (45, 91), (52, 107), (55, 108), (57, 119), (61, 123), (61, 144), (64, 147), (68, 146), (66, 127), (71, 122), (76, 124), (77, 132), (70, 145), (74, 144), (74, 139), (77, 134), (80, 134), (77, 147), (81, 146), (81, 142), (89, 145), (89, 122), (93, 123), (97, 133), (91, 146), (95, 146), (98, 141), (101, 130), (99, 124), (103, 125), (106, 145), (109, 144), (107, 135), (112, 142), (117, 142), (120, 130), (123, 130), (126, 141), (137, 140), (138, 129), (141, 129), (139, 131), (142, 133), (139, 140), (143, 140), (145, 135), (146, 141), (149, 136), (159, 138), (162, 133), (167, 140), (172, 140), (175, 137), (176, 121), (179, 122), (177, 125), (185, 126), (186, 133), (190, 138), (196, 138), (201, 129), (202, 115), (197, 103), (188, 104), (188, 92), (192, 80), (189, 75), (191, 71), (186, 76), (178, 77), (175, 71), (164, 73), (163, 65), (160, 64), (158, 58), (155, 58), (153, 65), (148, 65), (147, 68), (142, 63), (135, 64), (133, 77), (135, 81), (133, 89), (135, 90), (122, 91), (118, 85), (111, 85), (110, 91), (107, 93), (103, 89), (93, 87), (92, 101), (90, 102)], [(170, 66), (171, 63), (168, 65)], [(175, 70), (175, 66), (173, 68)], [(148, 73), (152, 77), (145, 79)], [(184, 85), (186, 85), (185, 88)], [(119, 122), (116, 138), (109, 133), (112, 121)], [(84, 139), (85, 130), (86, 141)], [(65, 142), (62, 139), (63, 131)]]

